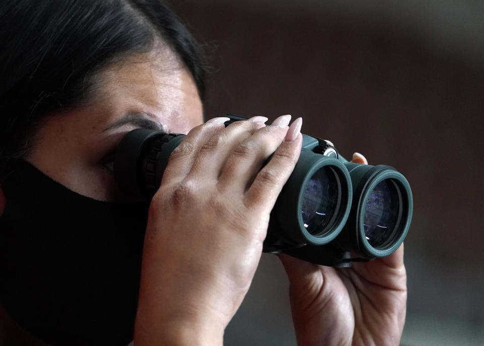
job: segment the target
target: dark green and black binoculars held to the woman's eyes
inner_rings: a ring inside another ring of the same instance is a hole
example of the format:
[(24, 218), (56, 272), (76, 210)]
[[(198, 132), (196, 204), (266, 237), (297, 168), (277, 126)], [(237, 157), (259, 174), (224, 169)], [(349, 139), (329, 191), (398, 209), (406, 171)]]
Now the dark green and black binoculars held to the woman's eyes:
[[(247, 120), (227, 116), (226, 126)], [(147, 129), (126, 134), (114, 158), (119, 187), (151, 198), (184, 137)], [(263, 251), (339, 267), (385, 257), (405, 239), (412, 209), (410, 185), (393, 167), (348, 162), (330, 142), (303, 134), (299, 159), (271, 212)]]

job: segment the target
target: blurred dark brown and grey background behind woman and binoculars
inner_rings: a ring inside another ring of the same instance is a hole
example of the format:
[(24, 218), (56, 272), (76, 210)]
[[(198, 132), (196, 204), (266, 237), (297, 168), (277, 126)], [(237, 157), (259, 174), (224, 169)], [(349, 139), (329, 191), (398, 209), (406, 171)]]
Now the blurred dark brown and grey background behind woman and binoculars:
[[(171, 1), (212, 66), (207, 118), (304, 119), (302, 132), (409, 180), (402, 344), (484, 344), (484, 3)], [(264, 255), (227, 345), (295, 344)]]

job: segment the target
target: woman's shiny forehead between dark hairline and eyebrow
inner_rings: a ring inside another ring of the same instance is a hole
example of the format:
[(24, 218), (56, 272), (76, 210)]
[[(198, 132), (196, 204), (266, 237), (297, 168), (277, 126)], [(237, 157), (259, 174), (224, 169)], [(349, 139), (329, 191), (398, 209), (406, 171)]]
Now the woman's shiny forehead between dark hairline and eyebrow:
[(93, 105), (104, 126), (126, 113), (145, 113), (172, 132), (185, 133), (202, 122), (202, 103), (191, 74), (168, 48), (135, 54), (105, 68), (95, 78)]

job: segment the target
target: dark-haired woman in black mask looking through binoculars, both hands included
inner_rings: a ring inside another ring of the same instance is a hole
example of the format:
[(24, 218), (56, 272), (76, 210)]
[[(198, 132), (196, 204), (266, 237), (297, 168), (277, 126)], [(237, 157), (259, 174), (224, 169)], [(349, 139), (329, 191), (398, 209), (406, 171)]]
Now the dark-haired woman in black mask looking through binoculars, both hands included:
[[(222, 344), (302, 120), (203, 123), (203, 60), (157, 0), (4, 2), (0, 23), (3, 343)], [(188, 133), (149, 205), (112, 176), (138, 127)], [(299, 345), (398, 344), (403, 248), (345, 270), (280, 258)]]

